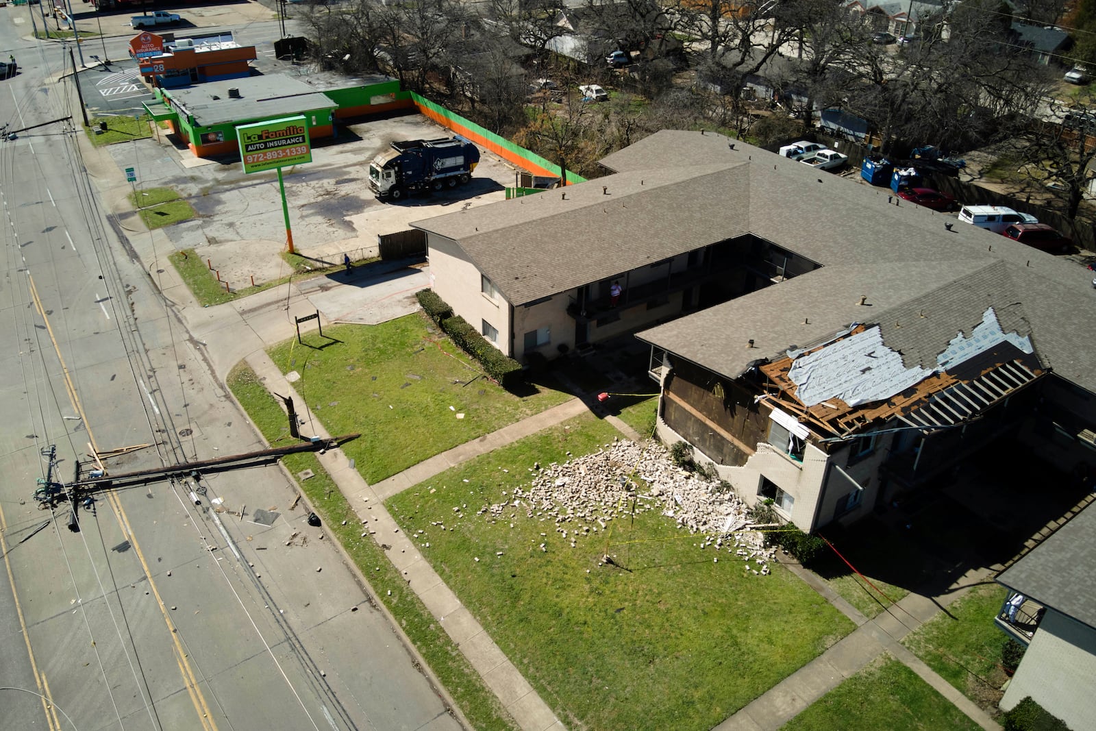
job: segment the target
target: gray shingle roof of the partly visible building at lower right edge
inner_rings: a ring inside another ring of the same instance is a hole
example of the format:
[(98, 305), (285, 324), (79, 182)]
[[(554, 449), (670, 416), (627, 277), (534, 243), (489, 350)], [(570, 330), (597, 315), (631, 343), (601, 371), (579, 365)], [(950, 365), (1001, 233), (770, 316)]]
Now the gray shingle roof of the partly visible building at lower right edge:
[(1096, 510), (1089, 505), (997, 582), (1096, 629)]

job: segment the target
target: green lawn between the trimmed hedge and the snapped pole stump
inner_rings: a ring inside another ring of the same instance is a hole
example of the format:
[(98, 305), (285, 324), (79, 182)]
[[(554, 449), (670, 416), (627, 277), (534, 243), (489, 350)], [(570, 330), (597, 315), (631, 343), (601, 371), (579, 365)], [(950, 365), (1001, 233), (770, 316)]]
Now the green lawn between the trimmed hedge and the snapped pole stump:
[(331, 434), (362, 433), (343, 449), (370, 483), (571, 398), (545, 386), (507, 392), (419, 312), (323, 334), (309, 329), (307, 345), (290, 340), (270, 356), (300, 374), (294, 388)]

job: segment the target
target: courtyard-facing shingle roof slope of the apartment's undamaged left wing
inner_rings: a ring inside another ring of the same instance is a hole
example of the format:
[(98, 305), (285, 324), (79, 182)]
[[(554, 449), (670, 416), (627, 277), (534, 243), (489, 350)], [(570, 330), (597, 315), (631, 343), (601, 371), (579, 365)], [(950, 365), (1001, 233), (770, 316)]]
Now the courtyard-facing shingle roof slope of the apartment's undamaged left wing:
[(746, 167), (608, 175), (411, 226), (457, 241), (506, 300), (524, 305), (745, 232)]

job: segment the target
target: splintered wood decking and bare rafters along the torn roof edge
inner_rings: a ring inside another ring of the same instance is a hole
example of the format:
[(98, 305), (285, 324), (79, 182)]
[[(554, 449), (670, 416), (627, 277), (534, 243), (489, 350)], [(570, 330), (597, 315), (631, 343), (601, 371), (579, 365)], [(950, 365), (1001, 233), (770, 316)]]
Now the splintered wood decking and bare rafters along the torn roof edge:
[[(849, 334), (866, 330), (860, 325)], [(779, 390), (769, 403), (838, 436), (891, 419), (926, 430), (966, 423), (1047, 373), (1034, 354), (1009, 342), (1000, 342), (950, 369), (928, 375), (886, 400), (854, 407), (834, 397), (807, 407), (796, 398), (798, 386), (789, 377), (795, 361), (789, 356), (758, 367)]]

